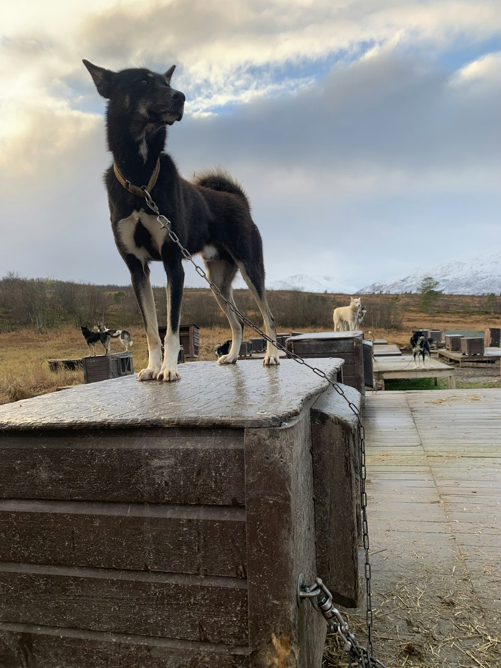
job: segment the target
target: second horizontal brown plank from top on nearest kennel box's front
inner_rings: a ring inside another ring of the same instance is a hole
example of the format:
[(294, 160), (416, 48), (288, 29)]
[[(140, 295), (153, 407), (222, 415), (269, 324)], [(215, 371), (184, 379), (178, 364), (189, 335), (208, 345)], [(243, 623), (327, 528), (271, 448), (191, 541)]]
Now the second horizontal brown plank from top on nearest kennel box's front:
[(0, 501), (0, 561), (245, 577), (244, 508)]

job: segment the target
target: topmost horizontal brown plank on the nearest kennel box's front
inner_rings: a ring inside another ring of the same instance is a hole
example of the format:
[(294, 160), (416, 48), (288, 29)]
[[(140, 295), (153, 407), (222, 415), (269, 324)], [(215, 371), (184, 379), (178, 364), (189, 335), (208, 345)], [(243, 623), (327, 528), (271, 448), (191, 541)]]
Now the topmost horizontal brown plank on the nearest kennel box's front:
[(243, 445), (242, 430), (10, 432), (0, 497), (243, 505)]

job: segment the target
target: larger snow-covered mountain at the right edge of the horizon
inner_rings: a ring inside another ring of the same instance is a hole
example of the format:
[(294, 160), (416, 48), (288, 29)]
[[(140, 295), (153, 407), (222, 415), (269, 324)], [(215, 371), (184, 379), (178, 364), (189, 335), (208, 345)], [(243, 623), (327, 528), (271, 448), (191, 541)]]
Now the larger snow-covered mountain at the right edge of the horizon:
[(428, 269), (414, 269), (408, 276), (389, 281), (377, 281), (358, 291), (370, 293), (417, 292), (424, 278), (438, 281), (438, 289), (449, 295), (501, 294), (501, 253), (454, 260)]

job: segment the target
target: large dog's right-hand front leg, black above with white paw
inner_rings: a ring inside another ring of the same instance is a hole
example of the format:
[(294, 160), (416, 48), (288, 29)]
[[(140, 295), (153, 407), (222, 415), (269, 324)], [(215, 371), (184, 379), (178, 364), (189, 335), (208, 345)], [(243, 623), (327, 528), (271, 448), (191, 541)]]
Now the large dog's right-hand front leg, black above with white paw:
[(169, 249), (164, 258), (167, 274), (167, 333), (164, 339), (164, 361), (158, 374), (158, 380), (179, 380), (179, 321), (181, 317), (182, 291), (184, 287), (184, 269), (177, 251)]

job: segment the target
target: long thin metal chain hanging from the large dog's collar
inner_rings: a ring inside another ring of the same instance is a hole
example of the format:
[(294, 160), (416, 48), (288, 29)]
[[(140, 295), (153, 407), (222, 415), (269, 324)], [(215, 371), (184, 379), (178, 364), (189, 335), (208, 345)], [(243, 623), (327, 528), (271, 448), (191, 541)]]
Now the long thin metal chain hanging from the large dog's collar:
[[(204, 279), (210, 289), (212, 290), (213, 293), (218, 295), (222, 301), (226, 304), (228, 309), (232, 311), (235, 315), (237, 315), (240, 319), (242, 319), (243, 323), (247, 325), (247, 327), (251, 327), (255, 332), (257, 332), (263, 339), (266, 339), (266, 341), (269, 341), (269, 343), (272, 343), (277, 349), (287, 353), (287, 357), (291, 357), (291, 359), (294, 359), (297, 363), (305, 365), (313, 373), (316, 373), (318, 376), (321, 378), (325, 379), (331, 387), (335, 389), (335, 391), (345, 399), (346, 403), (348, 404), (349, 408), (355, 415), (357, 416), (357, 430), (358, 430), (358, 436), (359, 436), (359, 442), (360, 442), (360, 449), (361, 449), (361, 461), (360, 461), (360, 501), (361, 501), (361, 516), (362, 516), (362, 535), (363, 535), (363, 549), (365, 552), (365, 598), (366, 598), (366, 604), (367, 604), (367, 613), (365, 616), (366, 623), (367, 623), (367, 649), (364, 649), (363, 651), (359, 648), (359, 657), (361, 661), (365, 661), (367, 657), (370, 657), (367, 660), (372, 661), (373, 663), (358, 663), (359, 666), (362, 668), (365, 668), (365, 665), (380, 665), (383, 666), (383, 664), (377, 659), (373, 659), (372, 657), (372, 652), (373, 652), (373, 641), (372, 641), (372, 625), (373, 625), (373, 612), (372, 612), (372, 597), (371, 597), (371, 564), (369, 562), (369, 526), (367, 524), (367, 492), (365, 491), (365, 480), (367, 479), (367, 468), (365, 466), (365, 428), (363, 427), (362, 420), (361, 420), (361, 411), (359, 408), (351, 401), (344, 393), (343, 388), (340, 387), (337, 383), (335, 383), (333, 380), (331, 380), (329, 377), (327, 377), (327, 374), (325, 371), (322, 371), (322, 369), (319, 369), (318, 367), (314, 367), (311, 364), (307, 363), (305, 359), (302, 357), (299, 357), (299, 355), (292, 353), (291, 351), (288, 351), (285, 346), (283, 346), (281, 343), (278, 341), (274, 341), (271, 337), (269, 337), (265, 332), (263, 332), (257, 325), (255, 325), (251, 320), (244, 315), (233, 303), (228, 301), (224, 295), (222, 295), (220, 289), (215, 283), (212, 283), (202, 267), (196, 264), (196, 262), (193, 259), (192, 254), (184, 248), (182, 243), (179, 240), (178, 235), (172, 230), (172, 223), (170, 220), (162, 215), (160, 211), (158, 210), (158, 206), (152, 200), (152, 196), (146, 190), (146, 186), (142, 186), (142, 190), (144, 191), (144, 196), (146, 199), (146, 204), (150, 207), (150, 209), (156, 214), (156, 219), (158, 220), (158, 223), (160, 224), (160, 228), (164, 229), (167, 231), (168, 236), (176, 246), (180, 249), (182, 253), (182, 257), (184, 259), (190, 261), (192, 265), (195, 268), (196, 273)], [(327, 590), (328, 592), (329, 590)], [(313, 599), (312, 599), (313, 600)], [(337, 612), (339, 614), (339, 617), (343, 619), (341, 616), (341, 613), (339, 611)], [(345, 637), (342, 635), (343, 628), (348, 628), (347, 623), (343, 620), (343, 625), (337, 624), (337, 629), (334, 629), (337, 631), (338, 635), (341, 636), (341, 639), (345, 639)], [(351, 637), (349, 639), (349, 643), (353, 643), (351, 647), (359, 647), (355, 641), (355, 638), (353, 637), (353, 634), (349, 634)], [(345, 643), (346, 645), (347, 643)], [(363, 654), (365, 653), (366, 659), (363, 659)], [(355, 660), (359, 661), (359, 657), (357, 657), (357, 652), (355, 651)], [(375, 663), (374, 663), (375, 662)], [(383, 667), (384, 668), (384, 667)]]

